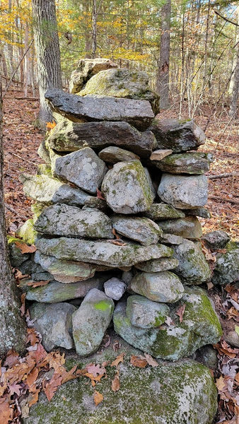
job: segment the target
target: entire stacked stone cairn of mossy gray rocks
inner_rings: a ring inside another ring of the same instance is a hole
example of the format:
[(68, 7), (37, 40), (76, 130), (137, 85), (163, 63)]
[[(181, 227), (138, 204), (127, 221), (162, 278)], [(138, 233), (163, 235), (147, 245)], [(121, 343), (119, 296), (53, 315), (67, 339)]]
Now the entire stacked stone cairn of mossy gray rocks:
[(146, 73), (109, 59), (81, 60), (71, 93), (45, 97), (57, 125), (40, 145), (37, 175), (22, 177), (35, 203), (18, 231), (37, 250), (21, 254), (16, 240), (10, 249), (13, 266), (30, 275), (21, 289), (47, 351), (90, 355), (111, 323), (165, 360), (216, 343), (221, 325), (200, 288), (211, 278), (197, 218), (210, 217), (202, 129), (156, 119)]

